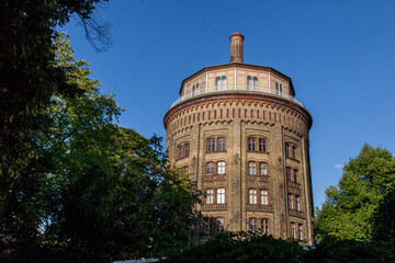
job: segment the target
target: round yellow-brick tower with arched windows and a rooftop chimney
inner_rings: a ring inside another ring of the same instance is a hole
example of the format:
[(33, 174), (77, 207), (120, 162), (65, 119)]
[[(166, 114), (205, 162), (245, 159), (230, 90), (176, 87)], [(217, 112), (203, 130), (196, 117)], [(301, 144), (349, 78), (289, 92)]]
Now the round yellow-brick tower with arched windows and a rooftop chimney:
[(203, 194), (205, 236), (261, 230), (312, 244), (312, 116), (291, 78), (244, 64), (242, 34), (229, 39), (230, 62), (184, 79), (165, 115), (170, 163)]

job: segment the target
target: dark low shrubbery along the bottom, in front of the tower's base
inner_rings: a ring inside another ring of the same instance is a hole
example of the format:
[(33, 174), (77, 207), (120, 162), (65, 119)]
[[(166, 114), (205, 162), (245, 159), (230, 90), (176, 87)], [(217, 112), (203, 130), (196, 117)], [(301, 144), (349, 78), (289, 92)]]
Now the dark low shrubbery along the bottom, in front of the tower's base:
[(274, 239), (271, 236), (224, 232), (162, 262), (386, 263), (394, 260), (394, 253), (381, 242), (326, 239), (315, 247), (304, 249), (295, 241)]

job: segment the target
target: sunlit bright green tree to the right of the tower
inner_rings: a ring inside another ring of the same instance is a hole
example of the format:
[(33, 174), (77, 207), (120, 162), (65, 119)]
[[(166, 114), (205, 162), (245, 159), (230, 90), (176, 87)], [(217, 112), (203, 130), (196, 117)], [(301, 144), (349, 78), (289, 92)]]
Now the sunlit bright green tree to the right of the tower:
[(326, 201), (315, 218), (318, 239), (371, 240), (374, 211), (394, 183), (391, 152), (364, 145), (345, 165), (338, 186), (325, 192)]

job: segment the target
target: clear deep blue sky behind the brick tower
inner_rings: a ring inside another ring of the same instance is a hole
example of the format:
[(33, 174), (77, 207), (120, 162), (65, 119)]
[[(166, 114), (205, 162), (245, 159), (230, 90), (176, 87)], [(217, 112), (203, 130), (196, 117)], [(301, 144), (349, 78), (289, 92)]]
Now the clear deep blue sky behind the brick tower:
[(181, 81), (229, 62), (229, 35), (244, 60), (292, 78), (313, 116), (315, 206), (364, 142), (395, 152), (395, 1), (111, 0), (98, 13), (113, 45), (95, 52), (71, 22), (76, 56), (126, 111), (120, 125), (166, 137), (163, 115)]

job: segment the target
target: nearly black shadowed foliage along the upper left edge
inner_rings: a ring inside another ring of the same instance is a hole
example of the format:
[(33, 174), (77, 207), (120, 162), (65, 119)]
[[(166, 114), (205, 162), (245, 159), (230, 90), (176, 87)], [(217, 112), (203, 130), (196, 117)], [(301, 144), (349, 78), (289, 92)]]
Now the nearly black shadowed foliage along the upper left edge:
[(8, 196), (23, 182), (30, 162), (37, 158), (32, 146), (48, 125), (45, 108), (53, 95), (72, 98), (83, 92), (68, 82), (68, 68), (53, 67), (56, 26), (71, 15), (86, 28), (101, 32), (92, 12), (106, 0), (2, 0), (0, 1), (0, 218)]

